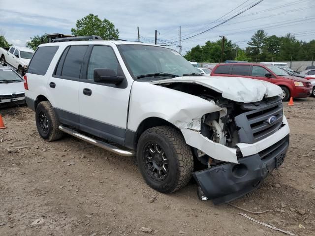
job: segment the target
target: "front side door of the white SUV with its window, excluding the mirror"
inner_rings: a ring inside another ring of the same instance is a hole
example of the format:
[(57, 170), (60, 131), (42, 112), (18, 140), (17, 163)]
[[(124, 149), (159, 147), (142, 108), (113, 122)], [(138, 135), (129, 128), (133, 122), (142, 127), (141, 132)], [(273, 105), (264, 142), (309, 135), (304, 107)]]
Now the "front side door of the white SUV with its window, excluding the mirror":
[[(123, 144), (126, 136), (127, 111), (131, 84), (128, 85), (121, 65), (111, 46), (91, 45), (86, 80), (80, 83), (81, 130)], [(118, 85), (94, 82), (94, 69), (111, 69), (125, 80)]]

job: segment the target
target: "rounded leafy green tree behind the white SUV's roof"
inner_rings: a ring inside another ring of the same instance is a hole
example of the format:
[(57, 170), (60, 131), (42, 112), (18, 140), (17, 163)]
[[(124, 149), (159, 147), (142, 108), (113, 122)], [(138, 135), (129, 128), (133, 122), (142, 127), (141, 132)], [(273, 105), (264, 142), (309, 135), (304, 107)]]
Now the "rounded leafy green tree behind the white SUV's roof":
[(71, 29), (75, 36), (98, 35), (106, 38), (118, 38), (119, 31), (112, 22), (107, 19), (101, 20), (97, 15), (89, 14), (81, 20), (77, 20), (76, 28)]

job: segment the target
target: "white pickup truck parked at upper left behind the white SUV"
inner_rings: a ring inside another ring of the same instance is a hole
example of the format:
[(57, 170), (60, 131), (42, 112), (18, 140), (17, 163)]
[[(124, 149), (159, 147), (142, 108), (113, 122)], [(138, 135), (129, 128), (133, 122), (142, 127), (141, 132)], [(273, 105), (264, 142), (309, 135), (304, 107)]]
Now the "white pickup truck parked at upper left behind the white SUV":
[(34, 50), (25, 47), (11, 46), (10, 48), (0, 48), (1, 64), (9, 64), (23, 76), (29, 67)]

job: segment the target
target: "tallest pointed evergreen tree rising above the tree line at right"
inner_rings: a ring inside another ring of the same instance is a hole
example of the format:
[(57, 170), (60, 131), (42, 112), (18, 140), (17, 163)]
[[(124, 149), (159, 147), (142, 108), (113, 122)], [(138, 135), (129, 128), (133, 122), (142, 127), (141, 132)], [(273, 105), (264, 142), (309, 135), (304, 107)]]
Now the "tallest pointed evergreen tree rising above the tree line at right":
[(262, 53), (262, 48), (265, 45), (267, 38), (267, 33), (263, 29), (258, 29), (251, 37), (251, 41), (247, 44), (249, 45), (246, 48), (247, 55), (252, 58), (252, 61), (259, 61), (262, 58), (259, 57)]

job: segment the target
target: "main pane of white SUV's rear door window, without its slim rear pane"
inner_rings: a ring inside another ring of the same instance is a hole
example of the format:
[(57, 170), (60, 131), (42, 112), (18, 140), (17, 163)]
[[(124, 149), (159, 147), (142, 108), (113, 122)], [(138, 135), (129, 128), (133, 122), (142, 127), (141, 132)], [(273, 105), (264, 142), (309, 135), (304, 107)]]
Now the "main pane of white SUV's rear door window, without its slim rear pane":
[(71, 46), (63, 63), (61, 76), (79, 78), (83, 58), (88, 46)]

